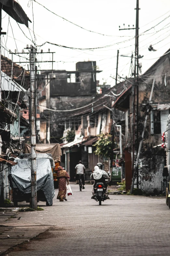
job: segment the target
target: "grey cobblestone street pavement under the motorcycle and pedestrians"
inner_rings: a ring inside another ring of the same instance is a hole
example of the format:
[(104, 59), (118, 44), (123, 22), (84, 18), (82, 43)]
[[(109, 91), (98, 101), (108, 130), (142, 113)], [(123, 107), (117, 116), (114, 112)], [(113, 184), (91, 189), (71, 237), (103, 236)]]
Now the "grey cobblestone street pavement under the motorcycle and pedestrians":
[(42, 212), (18, 213), (8, 226), (48, 226), (30, 242), (24, 242), (9, 256), (164, 256), (169, 255), (170, 210), (162, 197), (110, 195), (103, 205), (91, 199), (91, 185), (68, 201), (53, 201)]

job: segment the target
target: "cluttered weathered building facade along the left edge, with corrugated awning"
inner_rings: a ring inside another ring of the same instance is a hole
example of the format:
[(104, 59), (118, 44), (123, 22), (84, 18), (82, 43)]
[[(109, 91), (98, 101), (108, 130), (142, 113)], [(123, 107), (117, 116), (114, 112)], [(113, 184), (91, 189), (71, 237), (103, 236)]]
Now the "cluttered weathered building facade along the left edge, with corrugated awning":
[[(22, 89), (22, 92), (21, 92)], [(14, 80), (10, 79), (6, 73), (1, 71), (1, 92), (0, 92), (0, 201), (11, 199), (8, 173), (13, 160), (22, 151), (21, 137), (23, 129), (28, 127), (28, 123), (20, 117), (19, 98), (23, 96), (25, 89)], [(20, 96), (21, 93), (21, 96)], [(18, 101), (16, 101), (18, 98)], [(25, 106), (24, 106), (25, 107)]]

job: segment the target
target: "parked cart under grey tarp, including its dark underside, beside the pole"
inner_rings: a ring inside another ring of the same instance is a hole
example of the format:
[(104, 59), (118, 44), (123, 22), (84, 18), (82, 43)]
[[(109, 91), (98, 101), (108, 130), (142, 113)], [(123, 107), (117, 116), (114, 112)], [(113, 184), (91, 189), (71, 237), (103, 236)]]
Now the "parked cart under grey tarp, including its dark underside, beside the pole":
[[(15, 162), (17, 164), (12, 166), (8, 179), (13, 190), (12, 202), (14, 206), (17, 206), (18, 202), (30, 202), (31, 161), (30, 159), (16, 159)], [(37, 158), (36, 166), (37, 201), (44, 201), (47, 206), (51, 206), (55, 190), (50, 160)]]

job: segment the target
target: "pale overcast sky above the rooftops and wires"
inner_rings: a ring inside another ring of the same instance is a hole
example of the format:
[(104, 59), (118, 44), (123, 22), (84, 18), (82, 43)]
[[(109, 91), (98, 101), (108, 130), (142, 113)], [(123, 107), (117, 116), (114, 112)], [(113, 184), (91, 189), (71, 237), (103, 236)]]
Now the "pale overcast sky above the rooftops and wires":
[[(32, 21), (32, 23), (29, 22), (30, 31), (26, 26), (20, 25), (25, 33), (24, 35), (18, 24), (3, 11), (2, 31), (7, 32), (7, 35), (2, 37), (3, 46), (11, 51), (17, 48), (21, 52), (26, 47), (26, 44), (32, 44), (29, 40), (31, 37), (37, 45), (41, 45), (46, 41), (76, 48), (112, 45), (111, 47), (96, 50), (73, 50), (45, 44), (42, 47), (38, 47), (38, 50), (43, 49), (46, 52), (50, 48), (50, 51), (55, 52), (54, 60), (56, 62), (54, 63), (54, 69), (74, 71), (78, 61), (96, 61), (99, 70), (103, 71), (97, 75), (100, 84), (106, 81), (107, 84), (115, 85), (115, 80), (110, 76), (115, 77), (116, 75), (117, 50), (119, 49), (120, 55), (131, 56), (135, 49), (135, 30), (119, 31), (119, 26), (121, 28), (124, 27), (123, 24), (125, 24), (125, 27), (128, 27), (128, 25), (130, 27), (135, 26), (136, 0), (37, 0), (37, 2), (65, 19), (88, 30), (105, 34), (105, 36), (88, 32), (70, 24), (38, 5), (35, 1), (19, 0), (18, 2)], [(170, 1), (139, 0), (139, 8), (139, 34), (141, 34), (139, 37), (139, 54), (144, 55), (143, 59), (140, 60), (143, 74), (170, 48)], [(35, 39), (33, 34), (33, 14)], [(11, 26), (8, 22), (9, 20)], [(158, 23), (160, 24), (157, 25)], [(145, 32), (148, 29), (150, 30)], [(148, 50), (150, 44), (157, 51), (150, 52)], [(8, 58), (11, 56), (4, 48), (2, 54)], [(51, 60), (51, 57), (50, 54), (44, 54), (39, 55), (37, 58), (39, 60)], [(19, 60), (19, 58), (14, 57), (14, 61)], [(21, 61), (25, 61), (25, 59), (21, 58)], [(119, 58), (118, 74), (120, 76), (131, 75), (130, 61), (131, 59), (128, 57)], [(40, 69), (51, 68), (51, 64), (39, 64)]]

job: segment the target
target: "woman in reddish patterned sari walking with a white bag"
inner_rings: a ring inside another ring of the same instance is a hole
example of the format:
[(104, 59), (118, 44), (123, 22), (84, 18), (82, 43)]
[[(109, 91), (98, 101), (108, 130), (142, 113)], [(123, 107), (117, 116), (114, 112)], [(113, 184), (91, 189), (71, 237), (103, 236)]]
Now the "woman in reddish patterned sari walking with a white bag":
[(66, 181), (67, 181), (67, 185), (68, 185), (70, 177), (69, 177), (68, 173), (63, 169), (62, 166), (58, 167), (57, 179), (59, 181), (59, 191), (58, 191), (57, 199), (59, 199), (60, 202), (63, 202), (64, 200), (67, 201), (67, 199), (66, 199)]

